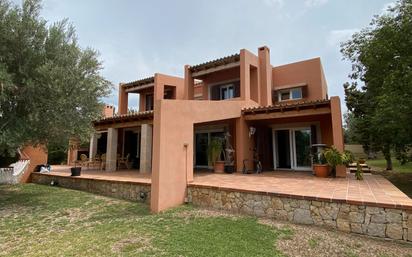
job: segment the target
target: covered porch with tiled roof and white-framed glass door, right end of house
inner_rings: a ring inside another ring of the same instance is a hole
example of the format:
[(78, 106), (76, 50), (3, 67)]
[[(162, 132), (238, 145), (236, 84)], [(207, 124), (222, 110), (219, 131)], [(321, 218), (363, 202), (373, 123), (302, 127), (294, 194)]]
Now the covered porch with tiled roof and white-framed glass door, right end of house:
[[(242, 110), (253, 150), (263, 170), (312, 171), (312, 145), (324, 144), (343, 151), (339, 102), (331, 100), (282, 103)], [(339, 112), (337, 112), (337, 109)], [(250, 154), (250, 153), (249, 153)], [(252, 168), (252, 167), (250, 167)], [(338, 176), (346, 169), (340, 167)]]

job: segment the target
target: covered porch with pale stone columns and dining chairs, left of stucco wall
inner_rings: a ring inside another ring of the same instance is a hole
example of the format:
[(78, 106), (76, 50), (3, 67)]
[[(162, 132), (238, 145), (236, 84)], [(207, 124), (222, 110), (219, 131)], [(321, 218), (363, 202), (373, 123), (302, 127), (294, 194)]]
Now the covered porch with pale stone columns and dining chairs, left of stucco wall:
[(94, 123), (94, 128), (88, 156), (92, 168), (108, 172), (133, 169), (151, 173), (153, 111), (102, 119)]

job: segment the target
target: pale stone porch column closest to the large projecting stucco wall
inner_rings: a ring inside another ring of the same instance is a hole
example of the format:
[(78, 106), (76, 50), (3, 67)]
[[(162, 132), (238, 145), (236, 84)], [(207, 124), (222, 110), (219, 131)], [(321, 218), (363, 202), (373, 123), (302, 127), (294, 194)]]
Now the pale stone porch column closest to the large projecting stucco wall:
[(152, 172), (152, 138), (153, 127), (150, 124), (142, 124), (140, 130), (140, 172)]

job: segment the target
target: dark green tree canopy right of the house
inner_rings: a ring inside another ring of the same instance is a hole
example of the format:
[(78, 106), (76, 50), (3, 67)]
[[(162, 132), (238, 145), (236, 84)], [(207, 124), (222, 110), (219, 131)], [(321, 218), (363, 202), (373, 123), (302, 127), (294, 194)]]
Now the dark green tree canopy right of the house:
[(386, 13), (342, 44), (352, 62), (344, 84), (352, 131), (365, 150), (381, 150), (392, 169), (391, 152), (404, 163), (412, 146), (412, 0), (399, 0)]

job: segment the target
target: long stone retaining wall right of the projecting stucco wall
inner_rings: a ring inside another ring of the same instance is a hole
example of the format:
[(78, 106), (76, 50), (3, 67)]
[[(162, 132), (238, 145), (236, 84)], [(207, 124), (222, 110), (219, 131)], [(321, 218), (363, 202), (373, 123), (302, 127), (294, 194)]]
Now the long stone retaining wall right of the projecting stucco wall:
[(318, 225), (344, 232), (412, 241), (412, 211), (190, 186), (197, 206)]

